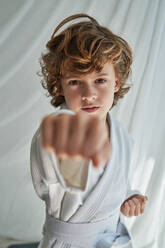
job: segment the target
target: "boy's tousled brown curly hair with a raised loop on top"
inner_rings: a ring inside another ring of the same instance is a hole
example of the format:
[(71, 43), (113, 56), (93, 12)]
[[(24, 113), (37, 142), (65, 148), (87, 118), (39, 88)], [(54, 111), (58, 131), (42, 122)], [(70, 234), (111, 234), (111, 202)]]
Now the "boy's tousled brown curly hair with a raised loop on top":
[[(78, 22), (68, 26), (55, 36), (67, 22), (76, 18), (87, 17), (90, 21)], [(58, 107), (65, 102), (61, 92), (61, 78), (66, 72), (79, 74), (100, 71), (110, 61), (115, 75), (120, 82), (120, 89), (114, 94), (113, 105), (129, 91), (126, 85), (131, 72), (132, 51), (128, 43), (101, 26), (93, 17), (76, 14), (64, 19), (53, 32), (46, 44), (48, 52), (41, 54), (40, 65), (42, 86), (51, 96), (51, 104)], [(127, 84), (128, 85), (128, 84)]]

